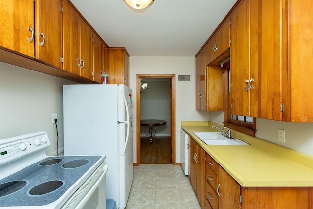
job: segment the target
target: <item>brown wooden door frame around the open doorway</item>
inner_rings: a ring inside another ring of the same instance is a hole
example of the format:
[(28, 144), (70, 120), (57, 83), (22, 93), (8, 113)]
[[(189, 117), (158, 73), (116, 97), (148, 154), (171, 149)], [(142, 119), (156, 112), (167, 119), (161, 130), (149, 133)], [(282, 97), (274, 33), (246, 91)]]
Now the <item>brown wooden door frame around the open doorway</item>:
[(175, 158), (175, 74), (137, 74), (137, 163), (134, 165), (140, 165), (141, 157), (140, 157), (140, 134), (141, 134), (141, 126), (140, 126), (140, 79), (141, 78), (170, 78), (171, 83), (171, 96), (170, 96), (170, 103), (171, 103), (171, 157), (172, 157), (172, 164), (176, 164)]

